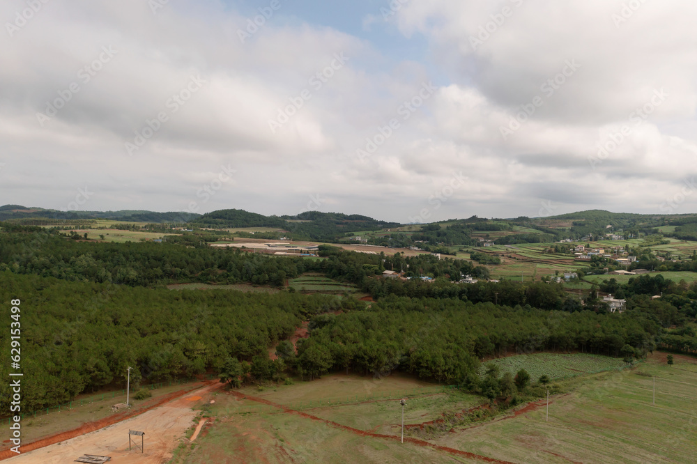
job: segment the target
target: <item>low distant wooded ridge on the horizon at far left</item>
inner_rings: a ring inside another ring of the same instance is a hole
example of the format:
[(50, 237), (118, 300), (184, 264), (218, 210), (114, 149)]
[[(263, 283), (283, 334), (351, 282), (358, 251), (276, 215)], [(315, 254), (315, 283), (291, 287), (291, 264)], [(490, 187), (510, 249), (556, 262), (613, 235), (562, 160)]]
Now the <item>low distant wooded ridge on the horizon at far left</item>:
[(21, 205), (0, 206), (0, 221), (10, 219), (113, 219), (122, 222), (188, 222), (201, 215), (192, 212), (155, 212), (144, 210), (120, 211), (59, 211), (27, 208)]

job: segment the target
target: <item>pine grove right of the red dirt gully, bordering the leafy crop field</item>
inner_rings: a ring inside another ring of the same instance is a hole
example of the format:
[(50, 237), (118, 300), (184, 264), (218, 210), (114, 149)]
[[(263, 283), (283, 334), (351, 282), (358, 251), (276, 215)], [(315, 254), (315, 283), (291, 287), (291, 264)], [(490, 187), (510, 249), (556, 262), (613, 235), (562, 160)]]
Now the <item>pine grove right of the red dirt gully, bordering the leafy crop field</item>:
[(632, 314), (566, 314), (394, 295), (365, 311), (317, 316), (298, 357), (286, 364), (307, 376), (352, 369), (384, 375), (399, 369), (426, 380), (474, 385), (479, 359), (536, 350), (579, 350), (639, 357), (655, 348), (659, 326)]

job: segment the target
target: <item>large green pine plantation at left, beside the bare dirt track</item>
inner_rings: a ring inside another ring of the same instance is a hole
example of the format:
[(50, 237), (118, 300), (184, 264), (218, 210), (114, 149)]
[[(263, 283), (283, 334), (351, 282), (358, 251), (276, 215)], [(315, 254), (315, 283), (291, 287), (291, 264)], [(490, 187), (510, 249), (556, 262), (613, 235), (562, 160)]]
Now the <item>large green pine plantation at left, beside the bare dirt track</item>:
[[(66, 282), (0, 272), (0, 300), (20, 299), (22, 407), (31, 412), (102, 387), (217, 373), (225, 359), (252, 361), (288, 338), (300, 321), (362, 304), (290, 293), (168, 291)], [(10, 333), (9, 317), (0, 321)], [(0, 343), (10, 353), (9, 337)], [(8, 378), (9, 364), (0, 375)], [(8, 382), (0, 410), (8, 411)]]

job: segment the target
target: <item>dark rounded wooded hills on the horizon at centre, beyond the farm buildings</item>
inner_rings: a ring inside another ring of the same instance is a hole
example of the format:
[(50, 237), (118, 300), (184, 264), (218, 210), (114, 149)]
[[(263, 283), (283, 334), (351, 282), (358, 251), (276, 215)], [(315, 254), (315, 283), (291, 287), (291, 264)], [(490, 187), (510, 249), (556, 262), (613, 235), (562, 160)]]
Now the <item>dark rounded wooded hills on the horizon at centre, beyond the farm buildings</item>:
[(245, 210), (218, 210), (195, 219), (192, 225), (218, 228), (274, 227), (288, 231), (293, 238), (334, 241), (348, 232), (376, 231), (397, 227), (395, 222), (378, 221), (340, 212), (307, 211), (295, 216), (264, 216)]

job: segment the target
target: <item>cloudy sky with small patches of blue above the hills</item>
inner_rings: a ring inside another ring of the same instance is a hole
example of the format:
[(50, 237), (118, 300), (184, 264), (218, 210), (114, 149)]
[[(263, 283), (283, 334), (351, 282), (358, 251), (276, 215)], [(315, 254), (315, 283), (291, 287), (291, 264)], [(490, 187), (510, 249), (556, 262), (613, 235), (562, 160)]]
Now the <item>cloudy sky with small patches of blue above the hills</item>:
[(694, 0), (6, 0), (0, 204), (697, 212)]

